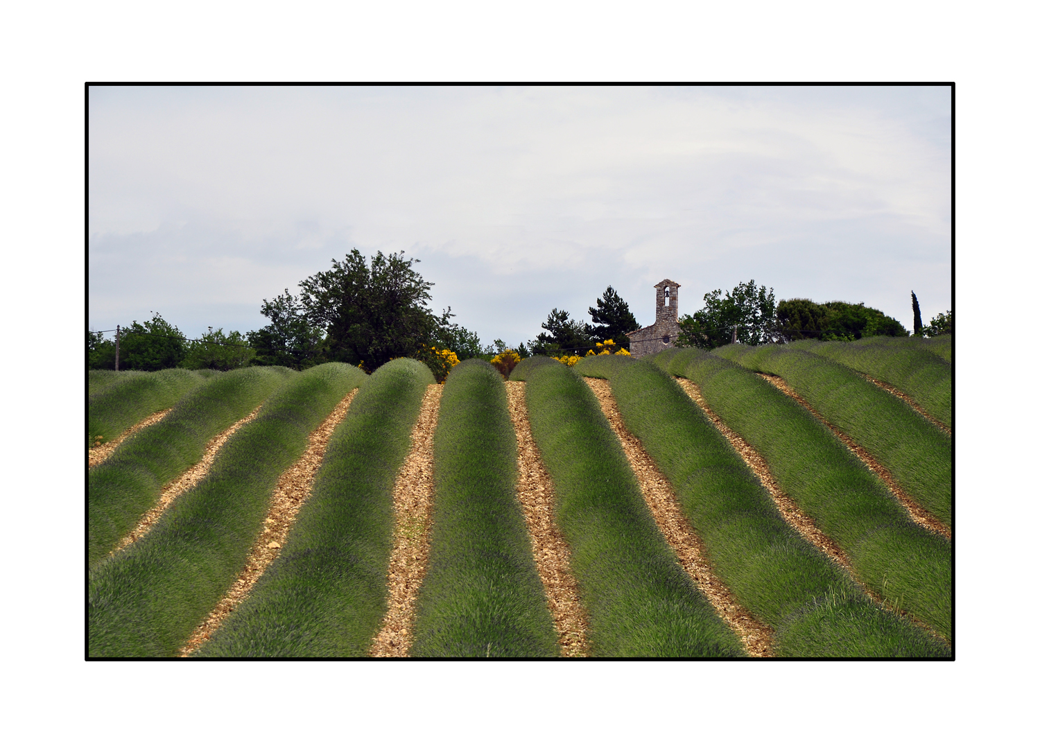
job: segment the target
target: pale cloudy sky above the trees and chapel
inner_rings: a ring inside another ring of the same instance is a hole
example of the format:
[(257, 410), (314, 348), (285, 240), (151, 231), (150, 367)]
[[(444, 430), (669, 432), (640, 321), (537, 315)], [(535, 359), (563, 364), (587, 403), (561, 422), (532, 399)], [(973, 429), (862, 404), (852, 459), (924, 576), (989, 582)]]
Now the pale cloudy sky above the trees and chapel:
[(912, 330), (952, 308), (944, 86), (92, 86), (87, 324), (189, 336), (357, 248), (516, 345), (607, 285), (640, 325), (749, 280)]

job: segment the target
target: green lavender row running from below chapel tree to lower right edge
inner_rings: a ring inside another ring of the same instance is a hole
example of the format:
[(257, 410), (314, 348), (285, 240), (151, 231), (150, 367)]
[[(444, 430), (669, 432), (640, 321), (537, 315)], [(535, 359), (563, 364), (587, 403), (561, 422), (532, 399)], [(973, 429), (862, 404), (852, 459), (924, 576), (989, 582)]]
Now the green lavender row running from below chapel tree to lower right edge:
[(708, 407), (762, 456), (781, 490), (846, 552), (864, 585), (951, 639), (947, 540), (914, 524), (825, 424), (760, 377), (690, 349), (667, 366), (700, 386)]

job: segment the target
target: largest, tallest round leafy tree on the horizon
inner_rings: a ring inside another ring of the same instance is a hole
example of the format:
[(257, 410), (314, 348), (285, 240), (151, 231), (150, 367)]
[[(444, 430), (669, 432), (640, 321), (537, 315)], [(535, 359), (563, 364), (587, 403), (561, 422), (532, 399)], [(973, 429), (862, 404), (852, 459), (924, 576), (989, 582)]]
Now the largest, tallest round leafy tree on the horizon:
[(300, 302), (312, 327), (324, 331), (331, 361), (364, 363), (373, 369), (392, 358), (433, 361), (435, 344), (451, 315), (426, 307), (433, 283), (412, 266), (405, 253), (376, 252), (370, 263), (356, 249), (332, 269), (300, 283)]

